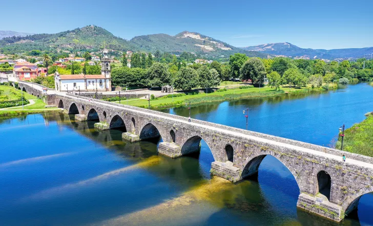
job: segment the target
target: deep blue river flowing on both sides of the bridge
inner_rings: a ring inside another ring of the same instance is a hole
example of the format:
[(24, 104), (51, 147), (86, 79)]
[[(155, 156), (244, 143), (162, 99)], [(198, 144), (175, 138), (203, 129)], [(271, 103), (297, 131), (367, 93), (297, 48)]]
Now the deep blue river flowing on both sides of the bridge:
[[(373, 87), (202, 104), (191, 118), (328, 146), (343, 123), (373, 110)], [(187, 107), (162, 110), (188, 116)], [(274, 157), (258, 181), (210, 176), (214, 161), (157, 154), (157, 141), (123, 142), (120, 130), (46, 113), (0, 118), (0, 225), (338, 225), (296, 208), (293, 175)], [(342, 225), (372, 225), (373, 194)]]

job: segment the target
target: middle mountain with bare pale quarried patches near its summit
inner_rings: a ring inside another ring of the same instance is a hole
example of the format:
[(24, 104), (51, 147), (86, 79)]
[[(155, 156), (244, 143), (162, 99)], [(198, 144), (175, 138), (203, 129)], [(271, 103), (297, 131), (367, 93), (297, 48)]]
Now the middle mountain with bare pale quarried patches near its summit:
[(143, 51), (171, 52), (180, 54), (182, 52), (207, 54), (208, 56), (227, 57), (234, 53), (244, 53), (248, 56), (267, 57), (268, 54), (254, 51), (245, 51), (231, 46), (220, 40), (202, 35), (196, 32), (183, 31), (175, 36), (168, 34), (152, 34), (136, 36), (130, 40), (135, 46)]

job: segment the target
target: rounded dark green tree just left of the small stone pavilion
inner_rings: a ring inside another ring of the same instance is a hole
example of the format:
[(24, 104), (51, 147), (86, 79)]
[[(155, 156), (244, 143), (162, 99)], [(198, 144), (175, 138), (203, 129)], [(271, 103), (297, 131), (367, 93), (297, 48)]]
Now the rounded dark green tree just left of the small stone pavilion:
[(148, 85), (164, 86), (171, 84), (171, 73), (162, 63), (153, 63), (148, 69)]

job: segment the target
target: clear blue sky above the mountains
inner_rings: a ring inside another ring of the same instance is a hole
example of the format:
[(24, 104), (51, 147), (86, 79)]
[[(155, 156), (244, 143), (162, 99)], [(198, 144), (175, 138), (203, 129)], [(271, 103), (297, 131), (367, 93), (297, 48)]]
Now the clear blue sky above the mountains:
[[(33, 15), (22, 16), (19, 6), (27, 6)], [(285, 41), (313, 49), (373, 47), (372, 0), (18, 0), (4, 1), (1, 8), (0, 30), (18, 32), (56, 33), (97, 25), (126, 39), (187, 30), (236, 47)]]

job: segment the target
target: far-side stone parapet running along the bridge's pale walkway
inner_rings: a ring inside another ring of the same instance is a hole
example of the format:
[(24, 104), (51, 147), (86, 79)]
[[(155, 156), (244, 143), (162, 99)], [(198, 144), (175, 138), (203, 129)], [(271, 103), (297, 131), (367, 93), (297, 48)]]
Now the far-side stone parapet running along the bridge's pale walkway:
[[(91, 100), (93, 102), (110, 104), (110, 105), (121, 107), (121, 108), (139, 110), (139, 111), (142, 111), (142, 112), (148, 112), (150, 114), (155, 114), (155, 115), (159, 115), (159, 116), (163, 116), (163, 117), (169, 117), (169, 118), (174, 118), (174, 119), (177, 119), (177, 120), (188, 122), (188, 118), (186, 118), (186, 117), (171, 115), (171, 114), (164, 113), (164, 112), (161, 112), (161, 111), (150, 110), (150, 109), (146, 109), (146, 108), (140, 108), (140, 107), (124, 105), (124, 104), (119, 104), (119, 103), (113, 103), (113, 102), (109, 102), (109, 101), (97, 100), (97, 99), (92, 99), (92, 98), (87, 98), (87, 97), (81, 97), (81, 96), (79, 97), (79, 96), (71, 95), (71, 94), (67, 94), (67, 95), (71, 96), (71, 97), (78, 98), (78, 99)], [(277, 142), (290, 144), (290, 145), (294, 145), (294, 146), (298, 146), (298, 147), (303, 147), (303, 148), (307, 148), (307, 149), (312, 149), (312, 150), (316, 150), (316, 151), (321, 151), (321, 152), (325, 152), (325, 153), (329, 153), (329, 154), (340, 155), (341, 160), (342, 160), (342, 155), (345, 155), (349, 159), (354, 159), (354, 160), (358, 160), (358, 161), (373, 164), (373, 157), (369, 157), (369, 156), (365, 156), (365, 155), (360, 155), (360, 154), (355, 154), (355, 153), (351, 153), (351, 152), (341, 151), (341, 150), (337, 150), (337, 149), (334, 149), (334, 148), (323, 147), (323, 146), (320, 146), (320, 145), (309, 144), (309, 143), (296, 141), (296, 140), (291, 140), (291, 139), (287, 139), (287, 138), (276, 137), (275, 135), (270, 135), (270, 134), (265, 134), (265, 133), (260, 133), (260, 132), (254, 132), (254, 131), (250, 131), (250, 130), (244, 130), (244, 129), (231, 127), (231, 126), (225, 126), (225, 125), (212, 123), (212, 122), (206, 122), (206, 121), (202, 121), (202, 120), (198, 120), (198, 119), (193, 119), (193, 122), (201, 124), (201, 125), (208, 125), (208, 126), (211, 126), (211, 127), (216, 127), (216, 128), (220, 128), (220, 129), (224, 129), (224, 130), (239, 132), (239, 133), (246, 134), (246, 135), (252, 135), (253, 137), (258, 137), (258, 138), (263, 138), (263, 139), (267, 139), (267, 140), (277, 141)]]

